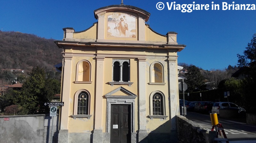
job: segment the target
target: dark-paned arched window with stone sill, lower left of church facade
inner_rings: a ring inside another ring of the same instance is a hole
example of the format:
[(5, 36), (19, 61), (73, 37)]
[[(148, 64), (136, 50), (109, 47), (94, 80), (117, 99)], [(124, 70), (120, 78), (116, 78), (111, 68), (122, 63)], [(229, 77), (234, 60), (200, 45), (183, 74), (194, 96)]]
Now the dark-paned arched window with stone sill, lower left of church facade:
[(74, 113), (73, 118), (90, 119), (90, 94), (87, 90), (79, 90), (74, 97)]

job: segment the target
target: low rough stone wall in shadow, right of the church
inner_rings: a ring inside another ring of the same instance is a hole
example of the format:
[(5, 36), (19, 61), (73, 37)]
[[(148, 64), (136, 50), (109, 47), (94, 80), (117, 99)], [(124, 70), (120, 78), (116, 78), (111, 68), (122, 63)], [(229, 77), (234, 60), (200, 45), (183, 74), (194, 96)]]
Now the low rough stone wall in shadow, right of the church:
[(178, 115), (176, 119), (179, 143), (213, 143), (215, 131), (209, 132), (184, 116)]

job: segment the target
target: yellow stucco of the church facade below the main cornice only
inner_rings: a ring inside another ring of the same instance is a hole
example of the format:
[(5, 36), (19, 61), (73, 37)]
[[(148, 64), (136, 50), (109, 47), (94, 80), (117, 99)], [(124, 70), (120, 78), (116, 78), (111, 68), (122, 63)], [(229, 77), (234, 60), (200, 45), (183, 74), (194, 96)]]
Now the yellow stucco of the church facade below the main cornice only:
[[(80, 50), (72, 50), (73, 53), (80, 53)], [(82, 53), (84, 54), (93, 54), (92, 51), (83, 51)], [(101, 54), (120, 54), (120, 51), (97, 51), (97, 53), (101, 53)], [(122, 54), (138, 54), (138, 55), (152, 55), (151, 52), (149, 53), (145, 53), (145, 52), (125, 52), (122, 51)], [(161, 52), (160, 52), (161, 53)], [(168, 54), (172, 54), (172, 55), (176, 55), (176, 53), (164, 53), (162, 52), (161, 54), (157, 54), (157, 55), (161, 55), (162, 58), (160, 59), (154, 59), (154, 58), (148, 58), (146, 60), (146, 106), (147, 106), (147, 110), (146, 110), (146, 114), (150, 115), (150, 94), (153, 91), (161, 91), (164, 93), (165, 96), (165, 115), (169, 116), (169, 106), (168, 106), (168, 70), (167, 70), (167, 55)], [(165, 55), (165, 56), (164, 56)], [(73, 115), (73, 108), (74, 108), (74, 96), (76, 91), (81, 90), (81, 89), (86, 89), (89, 91), (90, 95), (91, 95), (91, 104), (90, 104), (90, 114), (92, 115), (91, 119), (87, 119), (87, 118), (69, 118), (69, 125), (68, 125), (68, 131), (69, 132), (91, 132), (93, 130), (93, 113), (94, 113), (94, 95), (95, 95), (95, 67), (96, 67), (96, 61), (95, 59), (93, 59), (94, 57), (79, 57), (79, 56), (74, 56), (72, 58), (72, 72), (71, 72), (71, 82), (72, 81), (76, 81), (76, 64), (81, 61), (81, 60), (88, 60), (90, 61), (92, 68), (91, 68), (91, 84), (85, 84), (85, 83), (71, 83), (71, 93), (70, 93), (70, 112), (69, 112), (69, 116)], [(129, 87), (128, 85), (114, 85), (114, 86), (110, 86), (108, 84), (108, 82), (112, 81), (112, 60), (113, 59), (122, 59), (122, 58), (111, 58), (111, 57), (106, 57), (104, 59), (104, 79), (103, 79), (103, 95), (107, 94), (108, 92), (119, 88), (120, 86), (124, 87), (125, 89), (131, 91), (132, 93), (134, 93), (135, 95), (138, 95), (138, 60), (136, 58), (132, 58), (130, 59), (130, 68), (131, 68), (131, 82), (134, 82), (132, 84), (131, 87)], [(124, 59), (128, 59), (128, 58), (124, 58)], [(160, 62), (162, 63), (162, 65), (164, 65), (164, 82), (166, 83), (165, 85), (148, 85), (148, 83), (150, 82), (150, 65), (153, 62)], [(114, 95), (118, 96), (118, 95), (124, 95), (123, 92), (116, 92)], [(135, 131), (138, 130), (138, 98), (137, 97), (135, 99)], [(102, 109), (102, 130), (103, 132), (106, 132), (106, 102), (107, 100), (103, 97), (103, 109)], [(97, 108), (97, 107), (96, 107)], [(170, 126), (169, 126), (169, 117), (166, 118), (166, 120), (161, 119), (161, 118), (154, 118), (153, 120), (150, 120), (150, 118), (147, 118), (147, 130), (148, 132), (151, 132), (153, 130), (156, 130), (156, 132), (170, 132)], [(159, 130), (159, 126), (161, 126), (161, 130)]]

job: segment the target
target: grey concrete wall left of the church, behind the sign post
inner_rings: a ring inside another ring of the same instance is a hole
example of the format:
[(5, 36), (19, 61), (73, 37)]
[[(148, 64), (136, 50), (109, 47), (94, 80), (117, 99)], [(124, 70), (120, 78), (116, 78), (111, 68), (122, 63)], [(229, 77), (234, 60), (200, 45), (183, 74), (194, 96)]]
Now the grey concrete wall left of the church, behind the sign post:
[[(4, 120), (9, 119), (9, 120)], [(45, 114), (0, 116), (0, 142), (1, 143), (51, 143), (58, 142), (59, 117)], [(57, 125), (57, 126), (56, 126)]]

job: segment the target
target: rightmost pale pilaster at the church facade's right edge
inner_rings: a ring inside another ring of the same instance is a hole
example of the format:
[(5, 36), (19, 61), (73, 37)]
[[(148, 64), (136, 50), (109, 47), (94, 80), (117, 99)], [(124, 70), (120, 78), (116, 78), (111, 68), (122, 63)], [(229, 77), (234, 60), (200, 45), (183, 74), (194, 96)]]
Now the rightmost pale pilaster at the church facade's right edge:
[(178, 69), (177, 69), (178, 56), (168, 57), (168, 83), (169, 83), (169, 113), (171, 120), (171, 130), (176, 130), (176, 115), (180, 114), (180, 108), (178, 107)]

